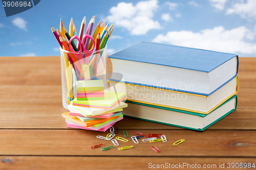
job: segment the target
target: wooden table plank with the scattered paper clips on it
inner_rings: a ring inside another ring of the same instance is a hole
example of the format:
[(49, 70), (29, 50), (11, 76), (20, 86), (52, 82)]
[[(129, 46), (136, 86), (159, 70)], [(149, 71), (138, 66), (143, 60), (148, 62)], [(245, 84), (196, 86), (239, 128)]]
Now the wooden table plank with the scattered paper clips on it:
[[(127, 130), (132, 136), (133, 130)], [(135, 144), (119, 141), (119, 146), (102, 152), (100, 148), (90, 149), (93, 145), (104, 143), (104, 147), (113, 145), (111, 141), (98, 139), (109, 132), (99, 133), (84, 130), (0, 130), (0, 155), (69, 155), (69, 156), (215, 156), (215, 157), (255, 157), (255, 131), (205, 131), (188, 130), (140, 130), (144, 134), (165, 134), (167, 142), (142, 142)], [(116, 136), (124, 137), (122, 132)], [(185, 142), (173, 145), (179, 139)], [(17, 143), (18, 141), (18, 143)], [(117, 148), (134, 145), (129, 150)], [(156, 145), (162, 152), (155, 153), (151, 147)]]

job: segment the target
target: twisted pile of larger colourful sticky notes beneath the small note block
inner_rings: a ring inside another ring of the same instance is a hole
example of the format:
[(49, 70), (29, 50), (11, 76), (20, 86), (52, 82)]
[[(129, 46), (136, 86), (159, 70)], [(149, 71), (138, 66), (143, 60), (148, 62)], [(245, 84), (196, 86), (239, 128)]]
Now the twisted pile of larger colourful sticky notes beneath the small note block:
[[(88, 85), (90, 83), (87, 80), (85, 84)], [(91, 89), (89, 88), (89, 90)], [(81, 101), (81, 99), (77, 100), (78, 98), (74, 99), (68, 105), (70, 112), (62, 113), (62, 117), (66, 118), (67, 127), (105, 132), (116, 122), (123, 119), (121, 111), (127, 107), (127, 104), (122, 101), (126, 99), (126, 93), (104, 90), (103, 93), (103, 99), (95, 100), (95, 98), (87, 95), (84, 96), (84, 99), (87, 100), (83, 99)], [(90, 95), (94, 94), (90, 93)]]

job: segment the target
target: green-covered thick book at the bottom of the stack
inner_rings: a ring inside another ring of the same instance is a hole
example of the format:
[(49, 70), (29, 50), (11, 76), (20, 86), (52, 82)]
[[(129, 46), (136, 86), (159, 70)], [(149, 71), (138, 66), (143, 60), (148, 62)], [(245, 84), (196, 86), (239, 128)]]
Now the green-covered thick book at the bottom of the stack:
[(237, 109), (237, 95), (233, 95), (209, 114), (201, 114), (131, 101), (126, 102), (129, 103), (129, 107), (122, 111), (123, 115), (126, 117), (197, 131), (204, 131)]

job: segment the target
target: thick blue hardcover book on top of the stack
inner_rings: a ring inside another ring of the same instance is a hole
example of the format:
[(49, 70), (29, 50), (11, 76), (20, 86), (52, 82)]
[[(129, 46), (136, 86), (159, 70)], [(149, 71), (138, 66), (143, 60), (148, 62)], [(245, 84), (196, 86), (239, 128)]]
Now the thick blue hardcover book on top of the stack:
[(144, 41), (109, 58), (125, 83), (200, 95), (210, 95), (236, 77), (239, 64), (235, 54)]

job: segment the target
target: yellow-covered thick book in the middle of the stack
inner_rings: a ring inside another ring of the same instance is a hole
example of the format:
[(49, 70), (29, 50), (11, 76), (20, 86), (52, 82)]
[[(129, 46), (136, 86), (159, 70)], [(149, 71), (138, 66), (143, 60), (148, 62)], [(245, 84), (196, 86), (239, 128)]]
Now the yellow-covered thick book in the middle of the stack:
[[(110, 86), (115, 84), (117, 91), (119, 83), (110, 81)], [(179, 109), (201, 114), (208, 114), (219, 107), (239, 89), (239, 77), (233, 78), (214, 93), (206, 96), (186, 92), (178, 92), (154, 87), (125, 83), (127, 102), (137, 102), (172, 109)]]

